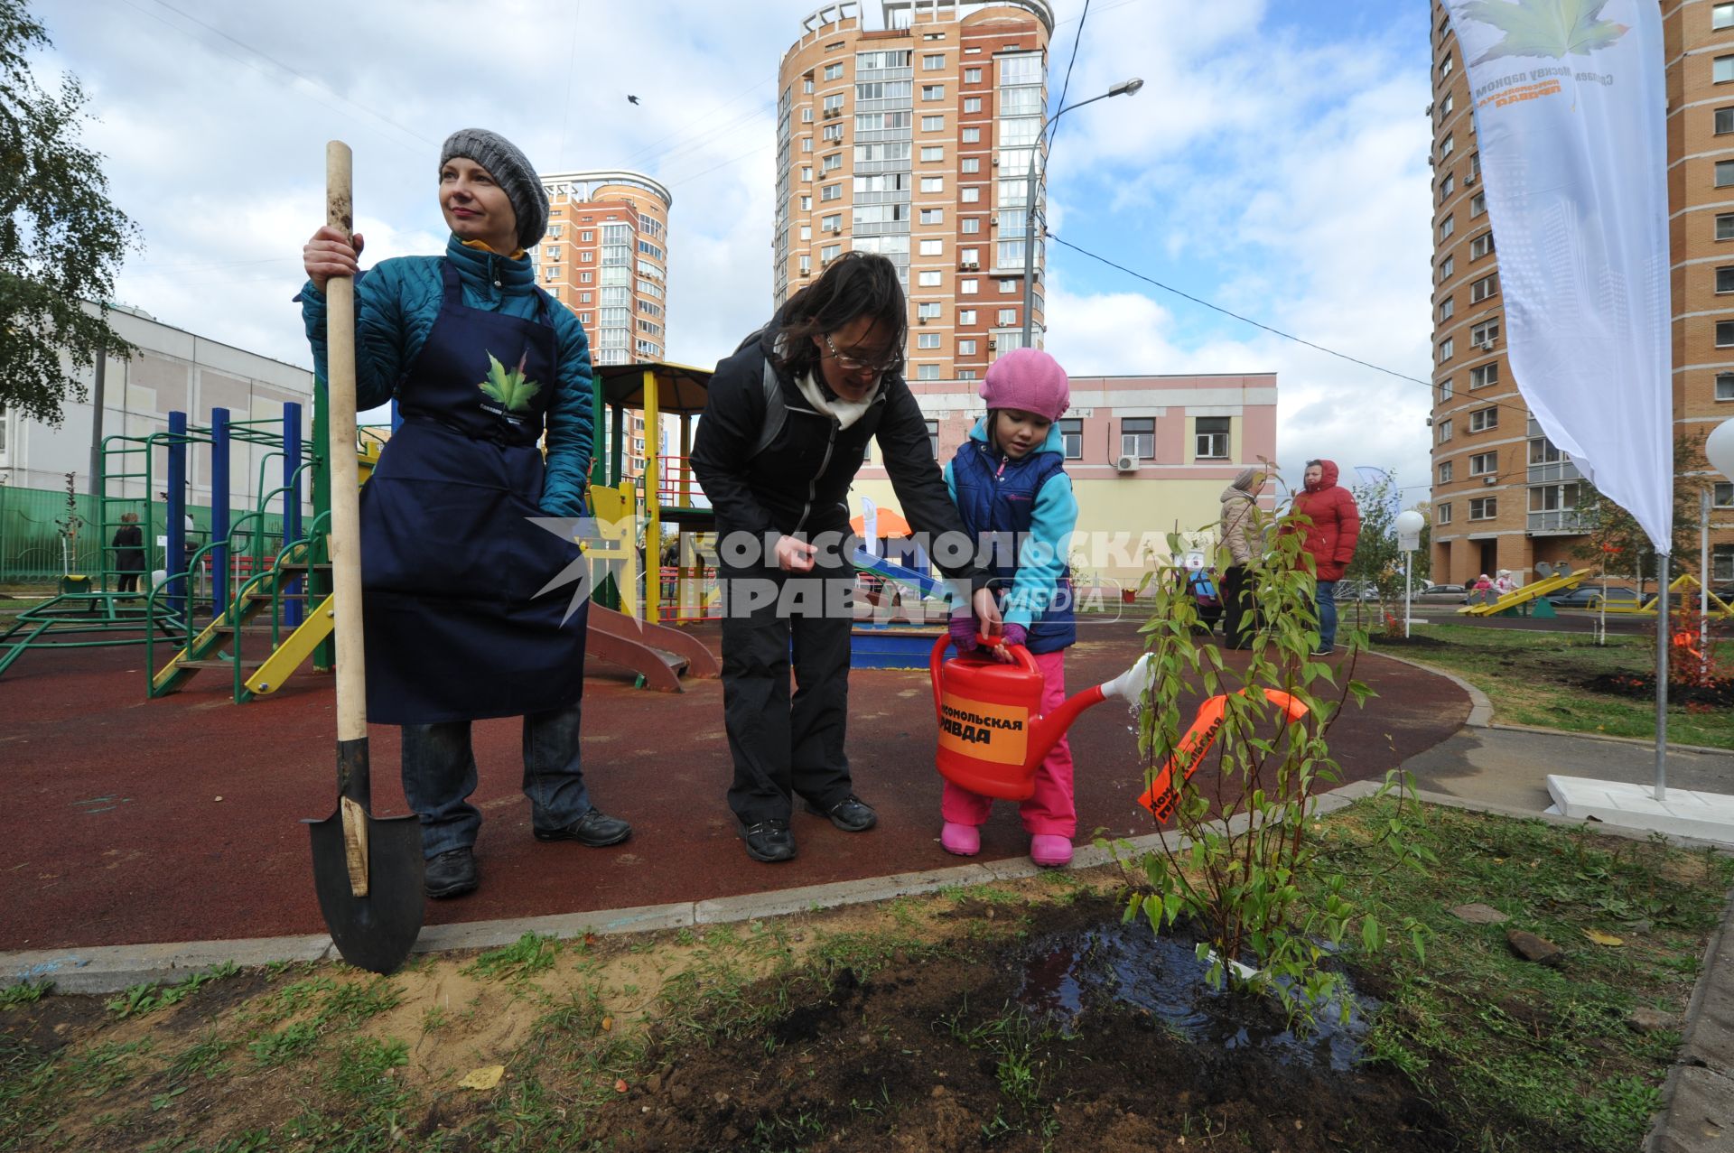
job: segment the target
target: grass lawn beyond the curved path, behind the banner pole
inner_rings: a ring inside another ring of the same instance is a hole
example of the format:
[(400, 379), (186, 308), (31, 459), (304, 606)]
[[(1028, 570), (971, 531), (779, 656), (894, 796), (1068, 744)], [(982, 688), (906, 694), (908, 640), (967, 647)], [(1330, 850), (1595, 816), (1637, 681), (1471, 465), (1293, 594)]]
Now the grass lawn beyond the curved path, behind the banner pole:
[[(1474, 624), (1429, 624), (1422, 633), (1439, 647), (1394, 650), (1415, 661), (1457, 673), (1488, 694), (1493, 720), (1609, 737), (1654, 737), (1656, 706), (1635, 697), (1592, 692), (1580, 681), (1602, 673), (1649, 676), (1656, 668), (1654, 643), (1646, 636), (1609, 635), (1597, 645), (1587, 633), (1540, 633)], [(1373, 643), (1379, 652), (1379, 643)], [(1720, 659), (1734, 645), (1718, 645)], [(1734, 749), (1734, 711), (1701, 709), (1670, 700), (1668, 733), (1682, 744)]]

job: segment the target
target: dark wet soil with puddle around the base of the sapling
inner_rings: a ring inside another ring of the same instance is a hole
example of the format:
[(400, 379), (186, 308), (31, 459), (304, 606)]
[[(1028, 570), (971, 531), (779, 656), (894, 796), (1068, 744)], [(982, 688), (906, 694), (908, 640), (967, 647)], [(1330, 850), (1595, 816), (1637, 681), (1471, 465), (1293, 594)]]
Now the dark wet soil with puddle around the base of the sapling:
[(759, 1153), (1465, 1144), (1401, 1073), (1363, 1061), (1365, 1018), (1295, 1037), (1198, 969), (1191, 940), (1151, 948), (1148, 924), (1120, 926), (1111, 900), (1040, 907), (1013, 943), (784, 987), (780, 1018), (711, 1047), (654, 1040), (655, 1075), (586, 1137)]

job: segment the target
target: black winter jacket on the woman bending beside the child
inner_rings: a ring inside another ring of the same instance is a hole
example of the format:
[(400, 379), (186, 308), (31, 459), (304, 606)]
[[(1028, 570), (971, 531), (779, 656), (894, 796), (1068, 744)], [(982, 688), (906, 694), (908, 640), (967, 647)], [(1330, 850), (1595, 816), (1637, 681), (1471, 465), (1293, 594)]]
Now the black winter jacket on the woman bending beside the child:
[[(962, 518), (945, 491), (945, 475), (933, 458), (928, 421), (902, 376), (881, 378), (867, 413), (848, 428), (813, 411), (799, 387), (782, 369), (777, 383), (787, 409), (777, 439), (751, 456), (765, 428), (765, 362), (772, 354), (777, 321), (753, 333), (733, 355), (718, 361), (704, 416), (692, 444), (692, 472), (716, 510), (716, 529), (815, 536), (848, 532), (848, 491), (860, 472), (869, 440), (879, 442), (879, 459), (916, 532), (964, 532)], [(751, 459), (749, 459), (751, 458)], [(987, 586), (973, 563), (945, 569), (948, 577)]]

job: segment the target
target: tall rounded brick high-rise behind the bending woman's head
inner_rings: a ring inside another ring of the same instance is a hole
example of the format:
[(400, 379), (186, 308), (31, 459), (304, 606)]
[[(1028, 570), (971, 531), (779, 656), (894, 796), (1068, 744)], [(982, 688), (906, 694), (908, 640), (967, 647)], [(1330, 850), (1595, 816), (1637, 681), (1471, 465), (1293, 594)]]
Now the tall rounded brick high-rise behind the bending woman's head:
[[(896, 264), (909, 380), (978, 380), (1023, 343), (1028, 172), (1047, 107), (1046, 0), (853, 0), (777, 73), (775, 303), (848, 250)], [(1044, 253), (1033, 255), (1040, 283)], [(1035, 291), (1033, 340), (1042, 343)]]

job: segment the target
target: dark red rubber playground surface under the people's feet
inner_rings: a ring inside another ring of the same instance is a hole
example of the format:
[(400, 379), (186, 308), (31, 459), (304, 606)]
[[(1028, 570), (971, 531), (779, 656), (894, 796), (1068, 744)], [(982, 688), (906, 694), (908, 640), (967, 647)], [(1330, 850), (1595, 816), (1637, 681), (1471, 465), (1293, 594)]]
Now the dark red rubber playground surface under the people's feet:
[[(714, 643), (714, 638), (711, 638)], [(1068, 654), (1073, 692), (1141, 652), (1131, 622), (1085, 629)], [(144, 694), (142, 648), (33, 652), (0, 678), (0, 950), (321, 933), (307, 831), (335, 801), (333, 697), (302, 671), (276, 697), (236, 706), (218, 673), (161, 700)], [(1235, 657), (1229, 655), (1229, 661)], [(1363, 657), (1379, 697), (1332, 733), (1347, 778), (1380, 777), (1469, 716), (1451, 681)], [(798, 811), (799, 857), (751, 862), (723, 799), (728, 747), (720, 681), (635, 690), (595, 666), (584, 695), (591, 796), (633, 822), (609, 850), (532, 841), (518, 792), (520, 725), (479, 721), (482, 888), (430, 902), (428, 924), (570, 914), (877, 877), (959, 863), (938, 843), (933, 697), (924, 671), (850, 678), (850, 761), (879, 827), (846, 834)], [(1080, 839), (1151, 832), (1127, 711), (1110, 700), (1072, 726)], [(375, 813), (406, 811), (397, 730), (371, 732)], [(1209, 772), (1209, 770), (1200, 770)], [(1023, 857), (1016, 806), (983, 827), (981, 857)]]

